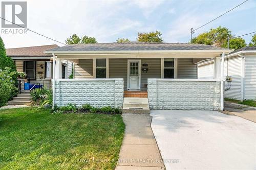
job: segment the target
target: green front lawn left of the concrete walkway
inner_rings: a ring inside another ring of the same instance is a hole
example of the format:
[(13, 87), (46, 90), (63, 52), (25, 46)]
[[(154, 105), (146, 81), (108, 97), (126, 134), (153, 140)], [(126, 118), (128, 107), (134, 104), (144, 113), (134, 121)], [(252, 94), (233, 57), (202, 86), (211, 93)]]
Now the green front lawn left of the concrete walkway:
[(114, 169), (121, 115), (0, 110), (0, 169)]

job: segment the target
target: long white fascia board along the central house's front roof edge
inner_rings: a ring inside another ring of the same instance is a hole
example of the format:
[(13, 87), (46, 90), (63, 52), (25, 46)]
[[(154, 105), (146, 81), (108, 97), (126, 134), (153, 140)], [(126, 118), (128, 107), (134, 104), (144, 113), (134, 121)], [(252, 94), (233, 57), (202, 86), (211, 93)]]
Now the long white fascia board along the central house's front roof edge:
[(140, 50), (140, 51), (44, 51), (46, 54), (170, 54), (170, 53), (231, 53), (233, 50)]

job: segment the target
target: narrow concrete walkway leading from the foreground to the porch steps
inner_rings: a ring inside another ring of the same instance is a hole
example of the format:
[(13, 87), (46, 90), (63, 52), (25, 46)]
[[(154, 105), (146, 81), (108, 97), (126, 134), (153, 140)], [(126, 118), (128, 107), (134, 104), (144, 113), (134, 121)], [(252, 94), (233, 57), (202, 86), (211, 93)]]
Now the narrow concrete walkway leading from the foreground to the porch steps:
[(116, 170), (120, 169), (164, 169), (149, 114), (122, 114), (125, 136)]

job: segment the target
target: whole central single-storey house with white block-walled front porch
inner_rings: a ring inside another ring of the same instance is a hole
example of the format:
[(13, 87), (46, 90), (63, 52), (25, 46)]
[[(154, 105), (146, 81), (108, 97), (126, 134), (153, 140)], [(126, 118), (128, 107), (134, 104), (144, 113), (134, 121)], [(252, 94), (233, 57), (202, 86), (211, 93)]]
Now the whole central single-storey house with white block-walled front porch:
[[(148, 42), (72, 44), (45, 51), (56, 63), (53, 104), (112, 106), (123, 112), (223, 109), (221, 70), (215, 79), (198, 79), (197, 63), (214, 59), (223, 73), (221, 58), (230, 52), (204, 44)], [(75, 63), (74, 79), (60, 76), (62, 60)]]

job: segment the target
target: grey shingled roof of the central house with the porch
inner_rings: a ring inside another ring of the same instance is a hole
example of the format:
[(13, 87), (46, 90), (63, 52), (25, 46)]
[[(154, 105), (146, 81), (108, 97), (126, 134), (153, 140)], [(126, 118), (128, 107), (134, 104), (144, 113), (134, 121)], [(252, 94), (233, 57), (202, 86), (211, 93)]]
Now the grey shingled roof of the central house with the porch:
[(158, 42), (123, 42), (71, 44), (54, 48), (50, 51), (146, 51), (146, 50), (223, 50), (205, 44), (158, 43)]

